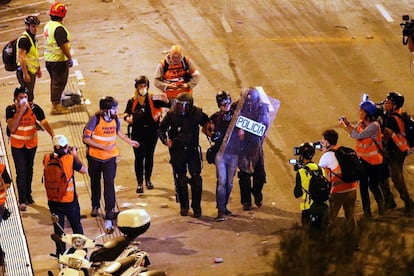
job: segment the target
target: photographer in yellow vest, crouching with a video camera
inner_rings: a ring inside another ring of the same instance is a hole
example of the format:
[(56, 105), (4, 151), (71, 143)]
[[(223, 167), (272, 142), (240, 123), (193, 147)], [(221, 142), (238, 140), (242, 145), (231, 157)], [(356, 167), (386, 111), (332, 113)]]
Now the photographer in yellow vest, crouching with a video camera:
[[(313, 177), (309, 172), (308, 167), (312, 171), (317, 171), (319, 166), (312, 161), (315, 155), (315, 147), (313, 143), (303, 143), (297, 149), (295, 154), (299, 155), (299, 160), (295, 164), (296, 184), (293, 194), (296, 198), (302, 197), (300, 208), (302, 210), (302, 225), (303, 228), (311, 235), (322, 234), (328, 226), (328, 203), (314, 204), (309, 195), (310, 180)], [(322, 173), (325, 175), (324, 170)]]

